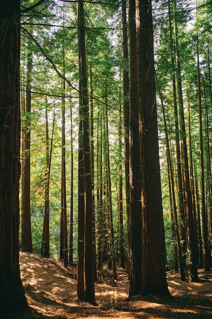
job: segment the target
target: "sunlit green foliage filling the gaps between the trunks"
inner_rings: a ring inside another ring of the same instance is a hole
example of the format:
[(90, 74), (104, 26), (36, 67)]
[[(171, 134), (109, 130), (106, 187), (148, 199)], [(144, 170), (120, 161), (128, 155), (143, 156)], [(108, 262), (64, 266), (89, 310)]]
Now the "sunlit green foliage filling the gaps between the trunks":
[[(22, 10), (34, 5), (35, 1), (21, 1)], [(119, 159), (118, 144), (118, 112), (122, 92), (122, 47), (120, 30), (120, 2), (110, 1), (107, 5), (97, 2), (85, 3), (85, 36), (88, 72), (89, 103), (94, 107), (94, 159), (95, 159), (95, 207), (97, 207), (97, 149), (100, 138), (100, 127), (97, 120), (99, 114), (104, 112), (107, 93), (108, 122), (109, 122), (109, 152), (112, 182), (112, 210), (114, 222), (115, 245), (118, 243), (118, 208), (117, 183), (118, 165), (122, 163), (123, 181), (124, 170), (124, 141), (122, 139), (122, 154)], [(174, 168), (175, 191), (176, 187), (176, 154), (175, 130), (172, 88), (172, 57), (175, 52), (170, 48), (170, 29), (168, 17), (168, 1), (156, 1), (154, 4), (154, 33), (155, 33), (155, 59), (156, 72), (160, 89), (163, 92), (165, 114), (167, 120), (169, 143), (171, 148), (172, 164)], [(176, 12), (173, 10), (173, 1), (170, 0), (171, 16), (174, 14), (178, 23), (178, 48), (180, 53), (181, 75), (183, 78), (183, 94), (186, 115), (186, 130), (188, 135), (187, 104), (190, 103), (191, 137), (193, 163), (197, 171), (197, 184), (199, 181), (199, 131), (198, 131), (198, 89), (197, 89), (197, 63), (196, 41), (199, 34), (200, 69), (202, 83), (203, 117), (206, 118), (206, 106), (209, 125), (204, 122), (205, 158), (207, 157), (206, 132), (211, 137), (211, 83), (210, 70), (212, 63), (211, 42), (211, 2), (198, 2), (198, 18), (194, 23), (194, 3), (184, 0), (177, 2)], [(58, 255), (60, 235), (60, 174), (61, 174), (61, 108), (62, 108), (62, 77), (63, 77), (63, 48), (65, 49), (65, 77), (66, 77), (66, 173), (67, 173), (67, 207), (68, 224), (70, 208), (70, 132), (73, 129), (74, 145), (74, 258), (77, 253), (77, 214), (78, 214), (78, 35), (76, 3), (45, 2), (39, 8), (25, 13), (22, 19), (21, 37), (21, 94), (22, 103), (25, 98), (25, 74), (27, 43), (33, 51), (32, 70), (32, 112), (22, 111), (21, 121), (24, 128), (26, 117), (31, 117), (31, 218), (33, 248), (40, 252), (42, 240), (42, 227), (45, 207), (46, 182), (46, 132), (45, 109), (48, 109), (49, 144), (55, 113), (55, 126), (53, 135), (53, 151), (50, 173), (50, 253)], [(173, 33), (174, 36), (174, 33)], [(27, 41), (31, 38), (32, 41)], [(175, 66), (176, 67), (176, 66)], [(129, 68), (127, 65), (126, 68)], [(106, 92), (107, 84), (107, 92)], [(91, 90), (92, 87), (92, 90)], [(168, 189), (167, 161), (164, 139), (164, 124), (161, 105), (158, 98), (158, 129), (161, 159), (161, 182), (163, 192), (164, 225), (166, 238), (166, 251), (169, 269), (173, 269), (173, 248), (170, 222), (170, 201)], [(70, 120), (72, 108), (73, 120)], [(103, 119), (104, 124), (104, 119)], [(123, 133), (123, 132), (122, 132)], [(210, 138), (211, 141), (211, 138)], [(211, 142), (209, 145), (211, 147)], [(103, 141), (104, 142), (104, 141)], [(105, 156), (105, 155), (104, 155)], [(103, 156), (103, 178), (105, 175), (105, 157)], [(205, 161), (205, 167), (207, 163)], [(206, 171), (206, 170), (205, 170)], [(127, 250), (127, 217), (125, 182), (123, 182), (124, 230)], [(176, 195), (177, 198), (177, 195)], [(97, 211), (97, 208), (96, 208)], [(68, 227), (69, 229), (69, 227)], [(127, 253), (126, 253), (127, 255)]]

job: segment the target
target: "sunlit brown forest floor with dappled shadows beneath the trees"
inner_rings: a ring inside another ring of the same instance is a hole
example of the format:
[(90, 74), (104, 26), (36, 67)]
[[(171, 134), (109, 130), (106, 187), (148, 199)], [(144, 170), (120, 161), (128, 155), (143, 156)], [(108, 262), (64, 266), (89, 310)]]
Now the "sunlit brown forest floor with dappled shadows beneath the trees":
[(126, 270), (117, 268), (114, 283), (105, 268), (98, 271), (99, 283), (95, 284), (98, 306), (77, 301), (76, 268), (66, 270), (57, 259), (20, 252), (20, 272), (29, 308), (11, 319), (212, 318), (212, 271), (199, 270), (198, 283), (182, 282), (178, 272), (168, 272), (172, 297), (127, 300)]

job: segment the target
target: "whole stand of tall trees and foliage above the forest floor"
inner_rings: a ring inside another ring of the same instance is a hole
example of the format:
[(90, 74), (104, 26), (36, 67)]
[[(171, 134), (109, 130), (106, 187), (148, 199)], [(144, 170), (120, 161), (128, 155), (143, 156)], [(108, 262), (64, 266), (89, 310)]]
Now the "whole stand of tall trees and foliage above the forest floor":
[(0, 12), (0, 306), (19, 252), (76, 267), (97, 305), (211, 269), (211, 0), (8, 0)]

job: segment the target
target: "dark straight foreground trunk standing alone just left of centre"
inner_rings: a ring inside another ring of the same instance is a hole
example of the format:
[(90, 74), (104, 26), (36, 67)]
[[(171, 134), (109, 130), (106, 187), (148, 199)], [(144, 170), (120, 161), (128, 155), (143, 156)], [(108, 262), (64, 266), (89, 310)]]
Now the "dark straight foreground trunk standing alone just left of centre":
[(89, 146), (89, 116), (87, 93), (87, 67), (85, 51), (85, 30), (83, 1), (77, 2), (79, 53), (81, 64), (81, 90), (82, 90), (82, 130), (83, 130), (83, 154), (84, 154), (84, 191), (85, 191), (85, 301), (96, 305), (94, 288), (94, 260), (93, 260), (93, 209), (92, 209), (92, 176), (90, 170), (90, 146)]

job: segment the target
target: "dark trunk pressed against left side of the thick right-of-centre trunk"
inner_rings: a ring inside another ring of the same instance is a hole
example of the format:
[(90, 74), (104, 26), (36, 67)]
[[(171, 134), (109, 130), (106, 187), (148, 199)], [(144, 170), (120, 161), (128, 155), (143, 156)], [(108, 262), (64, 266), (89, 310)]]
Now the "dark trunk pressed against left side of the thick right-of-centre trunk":
[(138, 64), (135, 0), (129, 0), (130, 38), (130, 220), (129, 220), (129, 296), (141, 294), (141, 174), (139, 142)]

